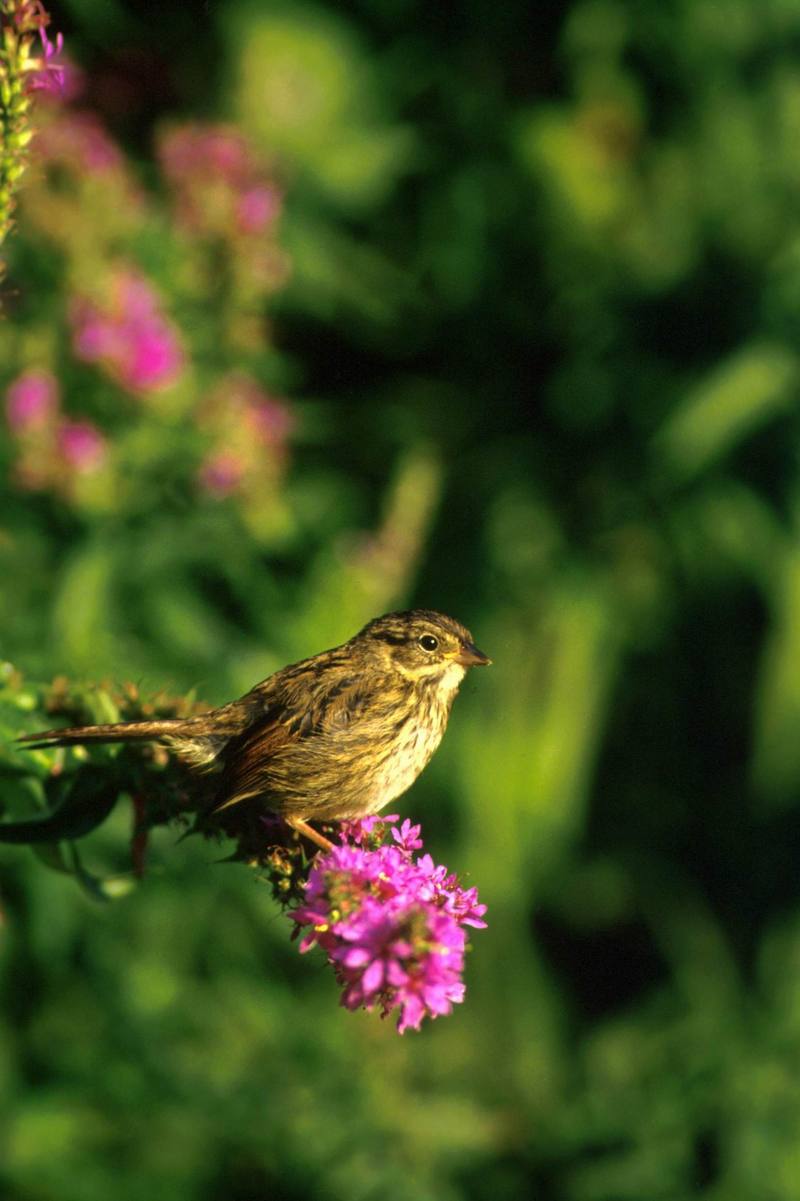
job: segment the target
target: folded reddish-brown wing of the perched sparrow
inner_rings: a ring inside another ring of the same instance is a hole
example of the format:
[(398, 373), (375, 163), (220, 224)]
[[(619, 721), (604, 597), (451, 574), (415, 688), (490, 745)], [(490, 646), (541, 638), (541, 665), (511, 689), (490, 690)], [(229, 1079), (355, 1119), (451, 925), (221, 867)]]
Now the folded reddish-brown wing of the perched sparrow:
[[(344, 729), (368, 704), (363, 676), (330, 670), (333, 664), (298, 664), (261, 689), (261, 716), (231, 739), (221, 755), (222, 776), (214, 812), (264, 793), (269, 760), (321, 730)], [(253, 693), (258, 689), (253, 689)], [(251, 697), (253, 694), (250, 694)]]

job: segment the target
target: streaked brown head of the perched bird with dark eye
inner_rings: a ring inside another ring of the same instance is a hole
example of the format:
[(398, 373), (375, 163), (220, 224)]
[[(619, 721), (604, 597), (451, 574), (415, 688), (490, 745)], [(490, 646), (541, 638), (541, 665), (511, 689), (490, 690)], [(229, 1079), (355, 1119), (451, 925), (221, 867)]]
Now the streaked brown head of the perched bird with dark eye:
[(491, 663), (468, 629), (432, 609), (408, 609), (376, 617), (353, 641), (408, 680), (448, 681), (458, 687), (471, 667)]

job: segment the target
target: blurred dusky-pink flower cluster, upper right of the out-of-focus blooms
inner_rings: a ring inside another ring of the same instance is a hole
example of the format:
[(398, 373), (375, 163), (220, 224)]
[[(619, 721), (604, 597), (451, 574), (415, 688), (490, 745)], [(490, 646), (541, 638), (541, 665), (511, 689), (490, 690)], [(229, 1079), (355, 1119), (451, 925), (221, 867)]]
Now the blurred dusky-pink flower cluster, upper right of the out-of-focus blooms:
[(195, 124), (169, 130), (159, 157), (189, 229), (261, 234), (275, 222), (281, 193), (235, 127)]

